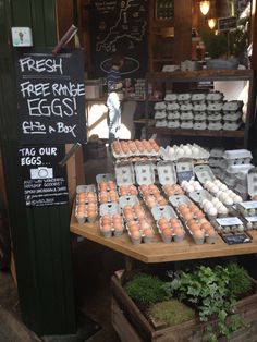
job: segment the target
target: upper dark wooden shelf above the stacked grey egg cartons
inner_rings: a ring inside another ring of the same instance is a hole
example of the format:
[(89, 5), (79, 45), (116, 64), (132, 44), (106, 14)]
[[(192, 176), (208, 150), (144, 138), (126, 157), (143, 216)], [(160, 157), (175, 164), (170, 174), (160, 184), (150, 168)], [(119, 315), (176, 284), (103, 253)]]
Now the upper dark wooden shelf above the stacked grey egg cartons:
[(148, 74), (148, 80), (163, 80), (167, 82), (199, 82), (199, 81), (244, 81), (253, 80), (253, 70), (199, 70), (156, 72)]

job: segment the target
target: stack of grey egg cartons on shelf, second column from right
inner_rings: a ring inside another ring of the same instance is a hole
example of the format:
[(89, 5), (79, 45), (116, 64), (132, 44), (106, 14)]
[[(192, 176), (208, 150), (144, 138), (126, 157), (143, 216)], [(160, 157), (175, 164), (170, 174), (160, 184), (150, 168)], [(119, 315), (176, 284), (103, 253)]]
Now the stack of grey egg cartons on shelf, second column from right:
[(208, 130), (222, 130), (222, 106), (223, 94), (220, 91), (210, 91), (206, 95), (206, 111), (208, 120)]

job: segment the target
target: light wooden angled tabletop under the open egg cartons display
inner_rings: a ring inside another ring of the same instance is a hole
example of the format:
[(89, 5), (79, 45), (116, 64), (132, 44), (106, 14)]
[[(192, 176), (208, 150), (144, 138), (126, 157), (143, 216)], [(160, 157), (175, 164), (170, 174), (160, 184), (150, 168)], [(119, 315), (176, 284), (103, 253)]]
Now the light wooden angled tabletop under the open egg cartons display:
[(180, 243), (164, 244), (160, 235), (156, 233), (150, 244), (133, 245), (127, 233), (120, 237), (106, 239), (101, 236), (99, 221), (78, 224), (73, 211), (71, 232), (147, 264), (257, 253), (257, 231), (250, 231), (253, 241), (248, 244), (228, 245), (218, 236), (217, 242), (212, 245), (206, 243), (196, 245), (188, 233)]

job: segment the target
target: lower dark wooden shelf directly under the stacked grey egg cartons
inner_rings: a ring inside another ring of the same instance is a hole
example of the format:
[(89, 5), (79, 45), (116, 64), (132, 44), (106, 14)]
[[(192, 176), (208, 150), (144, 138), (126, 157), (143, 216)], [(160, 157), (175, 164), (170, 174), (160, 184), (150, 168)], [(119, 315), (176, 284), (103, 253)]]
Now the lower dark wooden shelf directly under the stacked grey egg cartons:
[(157, 133), (161, 135), (175, 135), (175, 136), (209, 136), (209, 137), (234, 137), (244, 138), (245, 131), (209, 131), (209, 130), (182, 130), (182, 129), (168, 129), (148, 126), (148, 133)]

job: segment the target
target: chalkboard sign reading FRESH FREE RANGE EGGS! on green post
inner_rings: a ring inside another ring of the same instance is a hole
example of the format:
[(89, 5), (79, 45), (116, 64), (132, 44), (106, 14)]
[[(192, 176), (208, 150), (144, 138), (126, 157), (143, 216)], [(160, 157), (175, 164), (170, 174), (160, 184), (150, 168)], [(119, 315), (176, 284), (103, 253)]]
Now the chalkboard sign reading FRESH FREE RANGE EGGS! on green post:
[(85, 142), (82, 50), (23, 52), (16, 59), (20, 135), (23, 144)]

